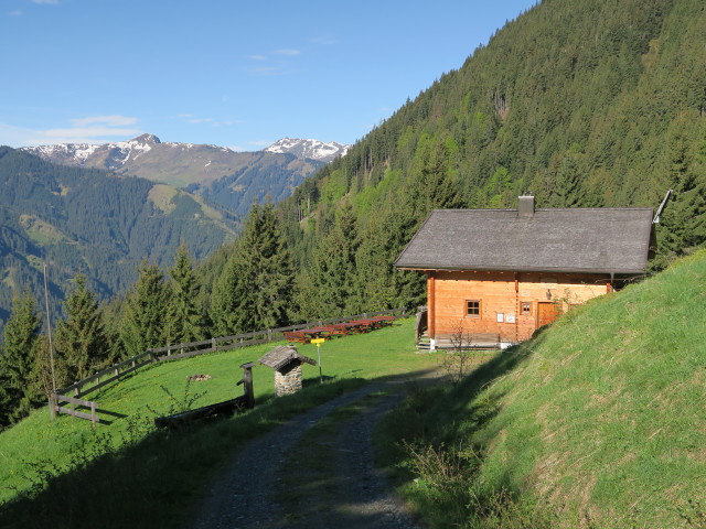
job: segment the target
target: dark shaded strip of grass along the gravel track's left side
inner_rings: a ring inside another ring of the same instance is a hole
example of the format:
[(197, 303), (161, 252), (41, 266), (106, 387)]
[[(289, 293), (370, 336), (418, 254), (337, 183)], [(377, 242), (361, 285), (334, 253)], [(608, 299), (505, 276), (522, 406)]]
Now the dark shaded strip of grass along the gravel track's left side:
[(26, 487), (0, 505), (0, 527), (179, 527), (214, 473), (246, 442), (366, 382), (347, 378), (311, 386), (178, 433), (156, 430), (151, 414), (132, 420), (121, 440), (96, 428), (69, 463), (24, 465)]

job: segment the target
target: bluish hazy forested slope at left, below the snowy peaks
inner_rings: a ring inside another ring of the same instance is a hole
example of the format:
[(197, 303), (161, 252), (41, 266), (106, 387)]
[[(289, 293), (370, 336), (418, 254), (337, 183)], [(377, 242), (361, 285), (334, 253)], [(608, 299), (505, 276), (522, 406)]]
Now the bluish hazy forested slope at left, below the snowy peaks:
[(184, 242), (205, 257), (234, 237), (235, 220), (167, 185), (53, 165), (0, 148), (0, 326), (13, 295), (42, 299), (50, 266), (55, 314), (68, 280), (83, 272), (100, 298), (125, 292), (142, 259), (171, 264)]

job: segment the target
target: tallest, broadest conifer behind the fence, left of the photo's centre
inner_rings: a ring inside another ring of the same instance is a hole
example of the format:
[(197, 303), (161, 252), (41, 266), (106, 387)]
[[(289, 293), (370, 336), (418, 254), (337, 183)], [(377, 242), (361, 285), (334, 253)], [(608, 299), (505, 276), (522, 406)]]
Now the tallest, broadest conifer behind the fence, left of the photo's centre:
[(271, 204), (254, 204), (216, 283), (212, 319), (229, 335), (288, 322), (293, 273)]

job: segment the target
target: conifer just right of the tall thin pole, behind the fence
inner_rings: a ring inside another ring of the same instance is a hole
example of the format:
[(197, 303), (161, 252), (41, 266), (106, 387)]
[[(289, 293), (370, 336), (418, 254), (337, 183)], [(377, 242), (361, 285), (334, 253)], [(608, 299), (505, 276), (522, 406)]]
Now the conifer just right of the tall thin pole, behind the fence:
[(64, 303), (66, 320), (56, 326), (57, 360), (69, 380), (83, 380), (109, 363), (111, 347), (103, 313), (86, 277), (76, 276), (75, 290)]

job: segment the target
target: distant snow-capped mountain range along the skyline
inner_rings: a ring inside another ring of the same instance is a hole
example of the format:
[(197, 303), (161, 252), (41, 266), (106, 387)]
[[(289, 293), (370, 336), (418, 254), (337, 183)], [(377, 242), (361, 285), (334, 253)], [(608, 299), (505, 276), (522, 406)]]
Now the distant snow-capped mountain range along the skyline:
[(345, 153), (336, 142), (286, 138), (255, 152), (211, 144), (161, 141), (141, 134), (100, 145), (67, 143), (21, 150), (62, 165), (140, 176), (201, 195), (232, 213), (247, 214), (254, 199), (279, 202), (315, 170)]

